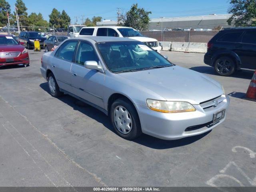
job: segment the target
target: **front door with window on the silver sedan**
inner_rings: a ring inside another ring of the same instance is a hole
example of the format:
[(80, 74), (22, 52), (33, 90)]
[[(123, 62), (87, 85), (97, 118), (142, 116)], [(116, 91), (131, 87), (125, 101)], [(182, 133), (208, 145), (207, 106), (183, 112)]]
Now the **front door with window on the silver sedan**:
[(74, 94), (101, 108), (104, 108), (103, 90), (105, 74), (84, 67), (84, 62), (96, 61), (98, 56), (89, 42), (80, 41), (77, 48), (75, 64), (71, 67), (71, 83)]

